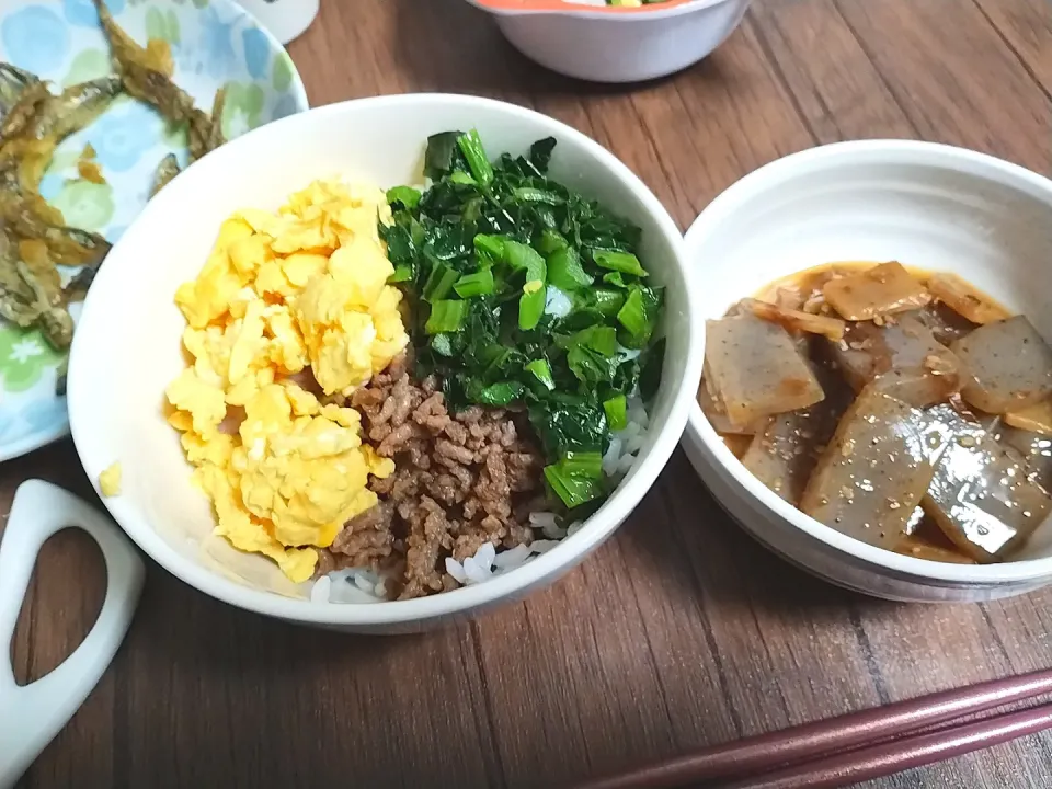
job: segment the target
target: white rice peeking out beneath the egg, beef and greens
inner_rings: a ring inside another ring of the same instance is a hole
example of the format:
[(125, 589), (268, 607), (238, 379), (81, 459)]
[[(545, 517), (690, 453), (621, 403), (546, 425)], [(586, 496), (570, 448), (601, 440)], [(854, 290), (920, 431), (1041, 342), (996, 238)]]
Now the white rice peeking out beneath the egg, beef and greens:
[[(549, 288), (549, 307), (552, 302), (552, 290), (556, 288)], [(559, 295), (563, 299), (567, 298), (564, 294)], [(650, 426), (650, 416), (638, 396), (628, 399), (626, 416), (628, 424), (625, 430), (613, 434), (610, 446), (603, 456), (603, 472), (615, 482), (619, 482), (620, 477), (631, 471), (639, 450), (647, 443)], [(535, 539), (529, 545), (501, 549), (500, 552), (491, 542), (484, 542), (474, 556), (468, 557), (462, 562), (448, 557), (446, 572), (464, 586), (485, 583), (552, 550), (563, 539), (576, 534), (584, 526), (584, 522), (574, 521), (563, 527), (554, 513), (535, 512), (530, 513), (529, 525), (539, 531), (544, 539)], [(387, 599), (387, 581), (388, 579), (367, 568), (338, 570), (315, 582), (310, 591), (310, 601), (319, 605), (380, 603)]]

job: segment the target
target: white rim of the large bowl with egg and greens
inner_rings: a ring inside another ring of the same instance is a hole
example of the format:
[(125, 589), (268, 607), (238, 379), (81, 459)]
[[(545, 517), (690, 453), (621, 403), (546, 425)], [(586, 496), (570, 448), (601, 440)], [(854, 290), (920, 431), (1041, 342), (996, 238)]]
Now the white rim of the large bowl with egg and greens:
[[(398, 107), (399, 105), (419, 106), (423, 104), (426, 107), (448, 105), (449, 103), (462, 104), (468, 110), (483, 106), (491, 110), (496, 108), (510, 113), (513, 116), (539, 121), (542, 127), (549, 127), (550, 133), (557, 139), (573, 139), (575, 144), (584, 148), (586, 156), (591, 156), (597, 161), (599, 168), (607, 170), (621, 181), (642, 204), (643, 211), (653, 218), (665, 242), (673, 250), (676, 265), (678, 265), (684, 281), (687, 284), (688, 293), (685, 294), (687, 300), (686, 319), (690, 336), (688, 339), (685, 369), (688, 371), (694, 369), (700, 370), (702, 336), (700, 323), (697, 319), (698, 309), (695, 304), (695, 289), (691, 286), (693, 274), (690, 267), (685, 263), (686, 255), (679, 228), (658, 197), (628, 165), (622, 163), (610, 151), (587, 135), (557, 118), (517, 104), (472, 95), (407, 93), (369, 96), (316, 107), (261, 126), (236, 140), (231, 140), (222, 148), (213, 151), (195, 167), (209, 167), (207, 163), (209, 161), (211, 162), (211, 167), (220, 167), (217, 162), (221, 163), (225, 151), (236, 148), (242, 139), (251, 139), (253, 136), (262, 137), (264, 135), (279, 136), (286, 125), (324, 123), (325, 118), (339, 115), (352, 106), (388, 105)], [(148, 217), (152, 210), (159, 210), (162, 207), (158, 202), (152, 202), (147, 205), (146, 209), (139, 216), (140, 218)], [(124, 242), (124, 238), (128, 238), (128, 236), (118, 240), (117, 245)], [(98, 291), (89, 293), (88, 300), (84, 305), (85, 316), (92, 306), (91, 298), (93, 293)], [(78, 425), (88, 423), (93, 419), (93, 415), (87, 407), (80, 405), (80, 401), (76, 397), (78, 389), (76, 373), (80, 367), (80, 364), (78, 364), (77, 336), (78, 335), (75, 335), (73, 338), (73, 345), (70, 352), (68, 403), (73, 444), (77, 447), (78, 456), (81, 456), (78, 436), (82, 434), (78, 430)], [(632, 477), (618, 485), (603, 506), (584, 522), (580, 530), (562, 540), (560, 545), (546, 553), (535, 557), (527, 564), (498, 575), (485, 583), (465, 586), (428, 597), (409, 601), (387, 601), (381, 603), (321, 604), (313, 603), (309, 599), (284, 597), (273, 592), (252, 588), (222, 578), (220, 574), (204, 568), (199, 563), (173, 550), (153, 529), (146, 516), (140, 514), (127, 499), (113, 496), (103, 498), (102, 501), (124, 531), (139, 548), (157, 561), (158, 564), (183, 582), (225, 603), (267, 616), (319, 625), (385, 626), (434, 620), (458, 613), (468, 614), (482, 606), (496, 603), (502, 598), (515, 597), (518, 593), (528, 591), (549, 575), (556, 574), (560, 569), (567, 565), (572, 567), (582, 558), (585, 558), (598, 544), (617, 529), (620, 523), (628, 517), (647, 492), (653, 487), (658, 476), (667, 465), (672, 453), (679, 443), (690, 405), (695, 401), (696, 388), (697, 384), (691, 375), (684, 375), (678, 390), (673, 395), (668, 420), (661, 426), (650, 453), (641, 458), (641, 462), (633, 469), (634, 473)], [(96, 480), (92, 480), (92, 483), (95, 484)]]

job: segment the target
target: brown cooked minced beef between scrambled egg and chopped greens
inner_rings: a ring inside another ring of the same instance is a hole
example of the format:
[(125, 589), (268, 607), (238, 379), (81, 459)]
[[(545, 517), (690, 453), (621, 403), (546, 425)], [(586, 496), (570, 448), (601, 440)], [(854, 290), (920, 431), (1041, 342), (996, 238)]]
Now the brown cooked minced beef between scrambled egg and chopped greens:
[[(380, 503), (350, 521), (319, 573), (371, 567), (391, 571), (399, 599), (455, 588), (445, 559), (474, 556), (483, 542), (529, 544), (529, 514), (546, 508), (544, 458), (519, 433), (516, 414), (472, 407), (449, 414), (437, 381), (418, 386), (404, 359), (351, 398), (365, 439), (395, 459), (369, 478)], [(391, 584), (389, 584), (389, 587)]]

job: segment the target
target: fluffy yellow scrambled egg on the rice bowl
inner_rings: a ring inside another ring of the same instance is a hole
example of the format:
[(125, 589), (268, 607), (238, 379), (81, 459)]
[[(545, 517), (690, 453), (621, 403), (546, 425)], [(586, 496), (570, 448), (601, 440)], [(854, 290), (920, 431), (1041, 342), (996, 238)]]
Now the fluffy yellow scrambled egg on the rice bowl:
[(307, 581), (315, 547), (376, 504), (368, 474), (395, 464), (363, 446), (359, 414), (322, 404), (300, 384), (350, 395), (409, 342), (401, 294), (377, 231), (382, 191), (317, 182), (276, 215), (228, 219), (197, 279), (175, 302), (191, 365), (168, 388), (216, 533)]

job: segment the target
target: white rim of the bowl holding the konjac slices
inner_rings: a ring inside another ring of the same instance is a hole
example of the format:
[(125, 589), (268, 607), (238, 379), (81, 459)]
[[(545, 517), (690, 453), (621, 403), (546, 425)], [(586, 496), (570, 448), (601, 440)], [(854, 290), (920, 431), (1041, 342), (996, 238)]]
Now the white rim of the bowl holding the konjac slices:
[[(967, 172), (979, 178), (997, 181), (1052, 205), (1052, 180), (988, 153), (980, 153), (979, 151), (940, 142), (904, 139), (831, 142), (777, 159), (754, 170), (729, 186), (701, 211), (701, 215), (687, 230), (688, 261), (696, 261), (695, 250), (708, 235), (755, 195), (766, 192), (801, 172), (814, 169), (831, 169), (860, 161), (938, 167)], [(700, 322), (706, 318), (707, 316), (698, 316), (698, 321)], [(684, 441), (691, 442), (696, 446), (702, 445), (708, 449), (717, 462), (761, 506), (774, 512), (775, 515), (813, 539), (870, 564), (904, 575), (949, 584), (1005, 584), (1052, 575), (1052, 557), (997, 564), (953, 564), (902, 556), (837, 531), (804, 515), (746, 471), (745, 467), (734, 457), (701, 413), (701, 408), (697, 401), (690, 408)], [(1052, 527), (1052, 522), (1049, 523), (1049, 527)]]

